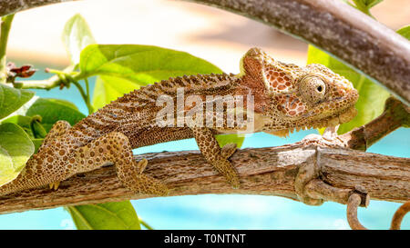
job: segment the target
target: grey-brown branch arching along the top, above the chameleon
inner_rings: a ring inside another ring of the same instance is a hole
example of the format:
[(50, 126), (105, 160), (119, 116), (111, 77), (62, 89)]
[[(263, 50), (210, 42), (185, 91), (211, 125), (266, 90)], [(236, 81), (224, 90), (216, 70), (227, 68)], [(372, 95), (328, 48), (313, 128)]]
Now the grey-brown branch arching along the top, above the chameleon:
[[(64, 1), (0, 0), (0, 15)], [(321, 47), (410, 104), (410, 42), (340, 0), (188, 1), (248, 16)]]

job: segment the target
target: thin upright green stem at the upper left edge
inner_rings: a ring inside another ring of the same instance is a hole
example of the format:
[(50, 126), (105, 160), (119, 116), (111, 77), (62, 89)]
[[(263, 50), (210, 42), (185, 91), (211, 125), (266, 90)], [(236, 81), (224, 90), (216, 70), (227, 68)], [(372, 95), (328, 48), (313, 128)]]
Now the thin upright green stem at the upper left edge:
[(0, 83), (5, 83), (7, 80), (7, 64), (5, 52), (7, 50), (8, 34), (15, 15), (5, 15), (1, 19), (0, 33)]

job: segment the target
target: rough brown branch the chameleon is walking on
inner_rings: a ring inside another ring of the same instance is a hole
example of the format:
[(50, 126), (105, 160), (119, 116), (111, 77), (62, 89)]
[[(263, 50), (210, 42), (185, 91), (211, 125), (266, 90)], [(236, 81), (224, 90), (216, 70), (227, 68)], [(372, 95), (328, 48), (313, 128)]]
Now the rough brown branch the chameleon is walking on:
[[(264, 194), (299, 201), (295, 180), (302, 166), (313, 166), (322, 182), (306, 185), (305, 192), (313, 199), (347, 203), (349, 193), (361, 186), (372, 199), (410, 200), (410, 159), (320, 147), (312, 141), (236, 152), (231, 162), (240, 174), (240, 189), (232, 189), (198, 152), (143, 154), (136, 159), (142, 157), (149, 160), (145, 173), (167, 184), (169, 195)], [(0, 213), (148, 197), (153, 196), (129, 192), (118, 181), (114, 166), (107, 166), (69, 178), (57, 191), (41, 187), (0, 197)]]

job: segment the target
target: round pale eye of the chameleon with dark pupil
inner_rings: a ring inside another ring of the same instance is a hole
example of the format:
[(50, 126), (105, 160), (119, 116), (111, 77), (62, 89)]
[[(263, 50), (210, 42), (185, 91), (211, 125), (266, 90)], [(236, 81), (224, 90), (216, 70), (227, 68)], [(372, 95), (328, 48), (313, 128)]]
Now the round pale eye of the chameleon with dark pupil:
[(299, 92), (306, 102), (317, 104), (323, 101), (326, 93), (326, 84), (319, 76), (308, 75), (302, 78), (299, 84)]

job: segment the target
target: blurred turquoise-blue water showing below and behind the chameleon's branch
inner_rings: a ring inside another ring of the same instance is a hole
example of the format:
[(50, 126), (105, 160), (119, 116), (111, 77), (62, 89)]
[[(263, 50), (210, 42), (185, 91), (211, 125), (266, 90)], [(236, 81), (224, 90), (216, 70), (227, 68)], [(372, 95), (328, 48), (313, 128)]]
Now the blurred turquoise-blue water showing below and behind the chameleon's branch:
[[(49, 75), (41, 70), (32, 79), (45, 79)], [(81, 84), (83, 84), (81, 82)], [(91, 81), (91, 89), (94, 81)], [(77, 104), (87, 114), (77, 88), (60, 91), (36, 90), (40, 97), (59, 98)], [(302, 140), (315, 130), (291, 134), (280, 138), (270, 134), (251, 134), (245, 138), (242, 148), (291, 144)], [(135, 154), (162, 151), (198, 149), (193, 139), (156, 144), (135, 150)], [(410, 157), (410, 129), (399, 128), (374, 144), (369, 153)], [(345, 205), (323, 203), (308, 206), (277, 196), (204, 194), (158, 197), (131, 201), (138, 216), (155, 229), (349, 229), (345, 217)], [(400, 203), (371, 201), (367, 208), (359, 209), (359, 219), (370, 229), (387, 229)], [(0, 229), (75, 229), (71, 217), (64, 208), (0, 215)], [(410, 229), (410, 214), (405, 216), (402, 229)]]

